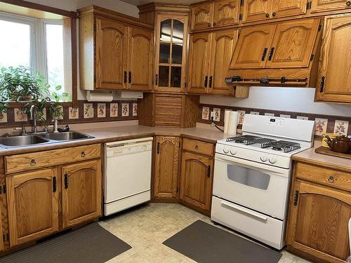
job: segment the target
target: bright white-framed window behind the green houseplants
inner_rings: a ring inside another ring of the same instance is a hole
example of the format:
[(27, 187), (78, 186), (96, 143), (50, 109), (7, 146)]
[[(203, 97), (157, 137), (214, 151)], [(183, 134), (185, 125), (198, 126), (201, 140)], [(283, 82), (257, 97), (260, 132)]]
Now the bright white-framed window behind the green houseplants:
[[(0, 67), (32, 67), (46, 76), (51, 91), (71, 95), (72, 85), (65, 76), (62, 24), (62, 20), (0, 12)], [(56, 86), (62, 88), (55, 90)]]

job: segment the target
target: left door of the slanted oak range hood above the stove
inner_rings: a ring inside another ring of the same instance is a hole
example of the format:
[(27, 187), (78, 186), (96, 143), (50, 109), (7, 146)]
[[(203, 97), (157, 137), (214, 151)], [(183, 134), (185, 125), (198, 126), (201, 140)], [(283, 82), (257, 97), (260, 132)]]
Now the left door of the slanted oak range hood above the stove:
[(265, 67), (276, 25), (260, 25), (241, 29), (230, 69)]

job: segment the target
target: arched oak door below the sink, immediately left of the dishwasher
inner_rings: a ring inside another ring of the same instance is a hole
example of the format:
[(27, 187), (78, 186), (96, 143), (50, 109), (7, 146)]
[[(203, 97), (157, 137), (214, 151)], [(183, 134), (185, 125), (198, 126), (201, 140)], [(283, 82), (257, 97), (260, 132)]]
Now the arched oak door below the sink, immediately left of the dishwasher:
[(62, 166), (62, 226), (72, 227), (101, 215), (101, 161)]

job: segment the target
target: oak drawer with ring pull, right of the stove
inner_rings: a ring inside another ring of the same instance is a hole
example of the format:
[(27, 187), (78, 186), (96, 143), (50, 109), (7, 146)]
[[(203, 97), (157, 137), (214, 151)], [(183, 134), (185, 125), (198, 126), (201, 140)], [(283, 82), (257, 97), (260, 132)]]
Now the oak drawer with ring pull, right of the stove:
[(307, 163), (297, 163), (296, 177), (329, 187), (351, 191), (351, 173), (313, 166)]

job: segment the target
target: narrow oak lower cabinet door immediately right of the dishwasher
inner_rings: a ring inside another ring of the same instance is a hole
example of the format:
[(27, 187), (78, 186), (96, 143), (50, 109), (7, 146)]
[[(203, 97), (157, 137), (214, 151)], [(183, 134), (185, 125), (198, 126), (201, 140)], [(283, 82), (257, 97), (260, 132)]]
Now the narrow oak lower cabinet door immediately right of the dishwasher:
[(156, 137), (154, 197), (177, 198), (179, 137)]

